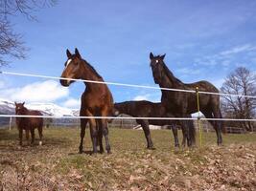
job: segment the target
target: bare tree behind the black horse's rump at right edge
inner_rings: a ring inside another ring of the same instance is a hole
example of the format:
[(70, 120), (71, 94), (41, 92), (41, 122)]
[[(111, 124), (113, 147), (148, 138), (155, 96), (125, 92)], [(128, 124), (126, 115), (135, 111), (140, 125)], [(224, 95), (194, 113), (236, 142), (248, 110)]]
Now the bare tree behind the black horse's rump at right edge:
[[(229, 74), (221, 87), (222, 93), (232, 95), (255, 96), (256, 75), (244, 67), (237, 68)], [(223, 96), (221, 103), (225, 117), (254, 118), (256, 116), (256, 99), (243, 96)], [(241, 122), (246, 131), (252, 131), (253, 123)]]

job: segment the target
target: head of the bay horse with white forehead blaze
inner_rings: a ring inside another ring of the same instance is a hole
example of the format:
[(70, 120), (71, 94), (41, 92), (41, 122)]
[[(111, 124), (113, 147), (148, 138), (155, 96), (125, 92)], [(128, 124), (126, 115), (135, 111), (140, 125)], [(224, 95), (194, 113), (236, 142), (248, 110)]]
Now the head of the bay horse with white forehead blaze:
[[(80, 79), (83, 61), (79, 50), (76, 48), (75, 54), (72, 54), (67, 49), (66, 54), (67, 61), (65, 62), (65, 68), (61, 74), (61, 77)], [(74, 82), (74, 80), (69, 79), (60, 79), (59, 81), (62, 86), (69, 86), (72, 82)]]

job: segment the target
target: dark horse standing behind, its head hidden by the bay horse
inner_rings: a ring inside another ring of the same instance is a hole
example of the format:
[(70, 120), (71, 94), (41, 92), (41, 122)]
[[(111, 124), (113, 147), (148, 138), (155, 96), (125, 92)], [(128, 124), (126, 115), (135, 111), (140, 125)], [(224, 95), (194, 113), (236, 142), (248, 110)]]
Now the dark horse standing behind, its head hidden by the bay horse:
[[(172, 114), (167, 114), (165, 107), (161, 103), (152, 103), (151, 101), (125, 101), (121, 103), (115, 103), (114, 108), (116, 110), (115, 115), (127, 114), (131, 117), (175, 117)], [(176, 120), (164, 120), (164, 119), (136, 119), (136, 122), (142, 126), (142, 129), (147, 139), (147, 148), (153, 149), (153, 143), (151, 140), (151, 131), (149, 125), (169, 125), (172, 127), (175, 137), (175, 147), (179, 146), (177, 138)], [(183, 134), (183, 139), (186, 135)], [(184, 141), (184, 140), (183, 140)]]

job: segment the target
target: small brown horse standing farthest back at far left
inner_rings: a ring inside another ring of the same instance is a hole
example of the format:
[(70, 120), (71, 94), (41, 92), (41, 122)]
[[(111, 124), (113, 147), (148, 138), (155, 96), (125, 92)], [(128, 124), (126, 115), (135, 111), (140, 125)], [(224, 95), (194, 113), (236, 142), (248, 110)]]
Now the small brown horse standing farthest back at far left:
[[(39, 111), (28, 110), (24, 107), (25, 102), (16, 103), (15, 102), (15, 114), (21, 116), (42, 116)], [(16, 125), (19, 131), (19, 144), (22, 145), (22, 134), (23, 130), (26, 131), (26, 139), (29, 141), (30, 132), (31, 132), (31, 144), (35, 141), (35, 129), (38, 129), (39, 134), (39, 145), (42, 145), (42, 127), (43, 127), (43, 118), (41, 117), (16, 117)]]

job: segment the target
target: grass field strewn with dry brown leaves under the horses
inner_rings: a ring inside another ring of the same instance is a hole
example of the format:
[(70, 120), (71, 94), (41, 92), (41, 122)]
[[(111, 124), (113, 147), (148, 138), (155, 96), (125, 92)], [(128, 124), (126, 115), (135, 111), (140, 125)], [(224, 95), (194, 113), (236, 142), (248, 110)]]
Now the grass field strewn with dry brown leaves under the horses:
[[(80, 130), (44, 129), (43, 145), (18, 146), (15, 129), (0, 130), (0, 190), (255, 190), (256, 135), (213, 133), (203, 146), (174, 148), (171, 131), (151, 131), (156, 150), (138, 130), (110, 129), (112, 154), (78, 154)], [(35, 134), (37, 138), (37, 134)], [(181, 139), (181, 138), (180, 138)], [(26, 143), (26, 141), (24, 141)]]

